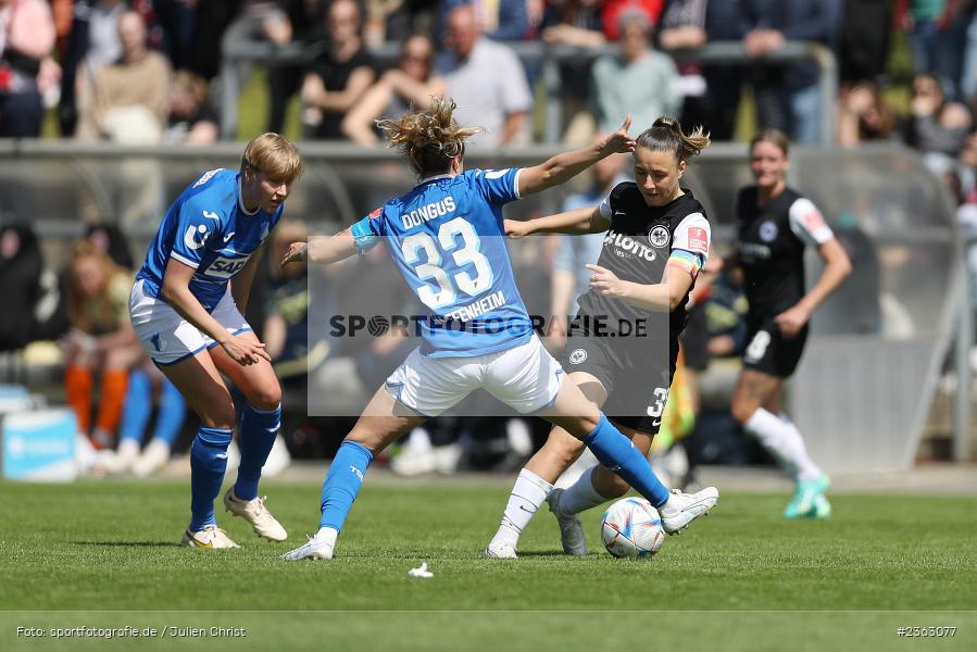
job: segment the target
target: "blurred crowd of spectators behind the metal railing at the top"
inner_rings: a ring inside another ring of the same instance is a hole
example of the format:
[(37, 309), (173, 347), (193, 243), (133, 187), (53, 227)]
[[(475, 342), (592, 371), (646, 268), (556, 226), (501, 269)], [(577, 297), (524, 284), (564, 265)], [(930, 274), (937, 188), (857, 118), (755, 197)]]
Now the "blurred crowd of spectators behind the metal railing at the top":
[[(884, 93), (897, 32), (918, 75), (899, 118)], [(487, 128), (480, 145), (526, 143), (541, 131), (541, 71), (512, 46), (527, 41), (565, 46), (569, 141), (629, 112), (638, 128), (672, 114), (729, 140), (749, 88), (757, 126), (816, 142), (814, 62), (764, 62), (786, 41), (813, 41), (838, 61), (840, 143), (902, 138), (973, 156), (974, 0), (0, 0), (0, 137), (37, 137), (57, 108), (65, 137), (206, 143), (220, 103), (238, 101), (217, 97), (224, 66), (246, 78), (264, 63), (268, 130), (283, 130), (298, 99), (303, 138), (375, 145), (373, 120), (447, 95), (462, 121)], [(713, 41), (741, 42), (748, 60), (669, 57)], [(228, 48), (256, 43), (293, 54), (225, 63)], [(396, 61), (376, 55), (390, 47)]]

